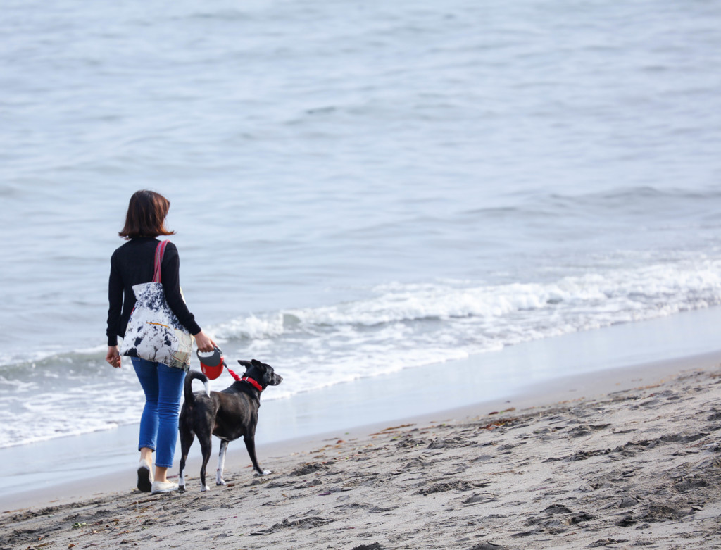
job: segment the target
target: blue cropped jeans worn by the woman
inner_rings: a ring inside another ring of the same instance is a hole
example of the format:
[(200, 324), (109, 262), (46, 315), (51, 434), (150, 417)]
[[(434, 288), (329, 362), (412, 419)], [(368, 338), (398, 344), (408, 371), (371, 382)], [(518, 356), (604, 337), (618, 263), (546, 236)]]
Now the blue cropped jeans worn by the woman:
[(145, 392), (138, 451), (143, 447), (152, 449), (156, 452), (155, 465), (170, 468), (178, 437), (178, 410), (185, 371), (141, 358), (131, 360)]

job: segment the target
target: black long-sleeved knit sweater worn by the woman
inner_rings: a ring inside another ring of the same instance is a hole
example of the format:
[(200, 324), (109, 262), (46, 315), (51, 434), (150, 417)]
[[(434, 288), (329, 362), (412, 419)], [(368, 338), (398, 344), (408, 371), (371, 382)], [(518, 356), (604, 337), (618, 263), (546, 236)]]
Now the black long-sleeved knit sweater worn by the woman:
[[(108, 283), (107, 345), (118, 345), (118, 336), (125, 334), (128, 319), (136, 303), (133, 285), (150, 283), (153, 280), (155, 249), (158, 239), (136, 237), (115, 250), (110, 258), (110, 281)], [(188, 311), (180, 294), (180, 259), (172, 242), (165, 248), (160, 265), (160, 278), (165, 290), (165, 299), (175, 316), (190, 334), (198, 334), (200, 327), (195, 316)]]

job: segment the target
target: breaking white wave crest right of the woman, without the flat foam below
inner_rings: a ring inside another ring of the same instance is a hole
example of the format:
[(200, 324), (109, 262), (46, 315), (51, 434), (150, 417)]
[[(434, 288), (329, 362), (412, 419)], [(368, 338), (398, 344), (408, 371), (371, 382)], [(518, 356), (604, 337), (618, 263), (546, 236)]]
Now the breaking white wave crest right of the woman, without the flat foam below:
[(721, 260), (688, 260), (568, 276), (549, 283), (469, 282), (380, 285), (361, 301), (239, 317), (213, 327), (228, 340), (314, 336), (348, 327), (453, 319), (493, 321), (509, 330), (553, 324), (568, 330), (635, 321), (721, 303)]

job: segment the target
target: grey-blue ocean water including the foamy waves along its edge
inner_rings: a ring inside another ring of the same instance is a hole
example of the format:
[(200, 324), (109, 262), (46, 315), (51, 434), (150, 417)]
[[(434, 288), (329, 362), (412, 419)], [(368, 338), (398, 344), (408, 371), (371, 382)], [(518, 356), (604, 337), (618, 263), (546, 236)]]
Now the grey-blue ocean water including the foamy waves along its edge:
[(264, 399), (721, 304), (714, 3), (3, 12), (0, 447), (138, 422), (104, 357), (141, 188)]

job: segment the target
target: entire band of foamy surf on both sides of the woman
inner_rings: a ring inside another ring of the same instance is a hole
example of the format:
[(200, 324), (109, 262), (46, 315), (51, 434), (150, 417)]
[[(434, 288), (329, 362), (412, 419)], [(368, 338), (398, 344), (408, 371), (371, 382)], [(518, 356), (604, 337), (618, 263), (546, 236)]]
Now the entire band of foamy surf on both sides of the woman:
[[(721, 305), (721, 260), (658, 262), (531, 283), (389, 283), (332, 306), (241, 316), (208, 327), (229, 364), (258, 358), (283, 375), (267, 399), (613, 324)], [(0, 447), (138, 421), (129, 362), (104, 346), (0, 366)], [(222, 389), (223, 377), (211, 381)]]

